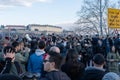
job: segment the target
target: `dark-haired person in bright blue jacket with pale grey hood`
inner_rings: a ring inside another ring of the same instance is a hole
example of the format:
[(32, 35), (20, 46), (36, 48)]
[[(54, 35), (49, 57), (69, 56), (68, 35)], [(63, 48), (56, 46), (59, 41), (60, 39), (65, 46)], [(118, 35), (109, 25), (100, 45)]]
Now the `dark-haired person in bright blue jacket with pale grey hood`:
[(35, 53), (33, 53), (28, 61), (28, 72), (32, 74), (36, 74), (37, 76), (41, 76), (43, 72), (43, 55), (45, 54), (45, 42), (39, 42), (39, 49), (36, 49)]

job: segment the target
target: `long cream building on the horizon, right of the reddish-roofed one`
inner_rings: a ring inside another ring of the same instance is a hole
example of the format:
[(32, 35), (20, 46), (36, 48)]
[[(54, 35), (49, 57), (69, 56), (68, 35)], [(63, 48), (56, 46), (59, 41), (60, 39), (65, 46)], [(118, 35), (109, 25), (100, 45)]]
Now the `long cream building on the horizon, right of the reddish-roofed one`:
[(52, 26), (52, 25), (39, 25), (39, 24), (29, 24), (27, 30), (30, 31), (39, 31), (39, 32), (47, 32), (47, 33), (61, 33), (63, 30), (61, 27)]

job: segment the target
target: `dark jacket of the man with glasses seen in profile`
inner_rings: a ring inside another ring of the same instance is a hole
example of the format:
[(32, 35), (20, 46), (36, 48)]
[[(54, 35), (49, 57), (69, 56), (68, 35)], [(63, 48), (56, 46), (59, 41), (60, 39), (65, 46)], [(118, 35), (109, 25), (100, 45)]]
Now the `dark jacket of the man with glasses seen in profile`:
[(46, 74), (45, 78), (41, 78), (40, 80), (71, 80), (71, 79), (62, 71), (51, 71)]

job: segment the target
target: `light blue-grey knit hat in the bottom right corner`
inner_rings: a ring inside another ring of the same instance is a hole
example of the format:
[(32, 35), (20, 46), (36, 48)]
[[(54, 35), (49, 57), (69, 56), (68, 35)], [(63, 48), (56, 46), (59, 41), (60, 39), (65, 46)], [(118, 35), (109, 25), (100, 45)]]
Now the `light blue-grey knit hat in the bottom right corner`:
[(107, 74), (104, 75), (102, 80), (120, 80), (120, 76), (114, 72), (108, 72)]

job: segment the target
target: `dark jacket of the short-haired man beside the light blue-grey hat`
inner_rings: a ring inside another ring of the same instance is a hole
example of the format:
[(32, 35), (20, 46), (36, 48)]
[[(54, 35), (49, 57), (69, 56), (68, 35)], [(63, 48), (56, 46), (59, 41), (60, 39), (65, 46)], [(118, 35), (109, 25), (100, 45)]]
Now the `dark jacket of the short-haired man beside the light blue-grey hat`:
[(90, 67), (85, 70), (83, 80), (102, 80), (105, 73), (104, 69)]

